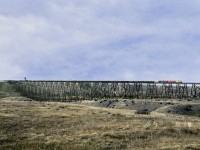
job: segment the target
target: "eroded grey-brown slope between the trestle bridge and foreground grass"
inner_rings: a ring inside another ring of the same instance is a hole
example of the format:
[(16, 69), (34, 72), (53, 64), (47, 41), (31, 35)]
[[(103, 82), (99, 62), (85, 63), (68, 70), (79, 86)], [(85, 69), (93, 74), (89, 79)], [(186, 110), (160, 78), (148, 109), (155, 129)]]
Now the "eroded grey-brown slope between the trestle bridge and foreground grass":
[(200, 103), (192, 100), (98, 100), (97, 107), (130, 109), (138, 112), (161, 112), (200, 117)]

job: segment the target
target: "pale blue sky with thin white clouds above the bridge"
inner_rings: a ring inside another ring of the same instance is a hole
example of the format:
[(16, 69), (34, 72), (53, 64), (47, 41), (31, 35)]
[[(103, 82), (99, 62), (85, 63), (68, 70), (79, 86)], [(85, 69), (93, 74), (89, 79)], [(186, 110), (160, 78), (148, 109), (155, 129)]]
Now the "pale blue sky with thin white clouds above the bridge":
[(0, 80), (200, 82), (199, 0), (0, 0)]

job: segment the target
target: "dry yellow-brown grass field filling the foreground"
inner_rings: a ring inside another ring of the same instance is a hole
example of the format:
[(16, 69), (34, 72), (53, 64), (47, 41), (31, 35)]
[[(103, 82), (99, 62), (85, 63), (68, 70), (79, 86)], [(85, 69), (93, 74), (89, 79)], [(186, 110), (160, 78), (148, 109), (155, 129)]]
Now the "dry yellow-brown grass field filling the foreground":
[(0, 100), (0, 149), (200, 149), (200, 119)]

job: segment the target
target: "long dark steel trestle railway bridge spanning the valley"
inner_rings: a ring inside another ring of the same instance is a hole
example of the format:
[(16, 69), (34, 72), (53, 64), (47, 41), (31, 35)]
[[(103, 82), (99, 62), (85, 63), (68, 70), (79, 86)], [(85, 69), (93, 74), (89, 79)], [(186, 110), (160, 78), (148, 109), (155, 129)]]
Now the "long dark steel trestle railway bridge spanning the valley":
[(200, 98), (200, 83), (36, 80), (9, 80), (7, 82), (23, 96), (36, 100)]

